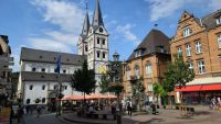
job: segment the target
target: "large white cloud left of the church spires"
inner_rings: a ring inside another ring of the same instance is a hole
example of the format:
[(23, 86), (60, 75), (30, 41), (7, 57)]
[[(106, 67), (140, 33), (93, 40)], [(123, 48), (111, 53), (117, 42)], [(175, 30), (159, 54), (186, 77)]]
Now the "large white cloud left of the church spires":
[(29, 37), (30, 45), (34, 48), (46, 50), (73, 52), (81, 33), (85, 10), (80, 3), (62, 0), (33, 0), (31, 2), (43, 16), (43, 21), (52, 24), (50, 29), (42, 30), (40, 36)]

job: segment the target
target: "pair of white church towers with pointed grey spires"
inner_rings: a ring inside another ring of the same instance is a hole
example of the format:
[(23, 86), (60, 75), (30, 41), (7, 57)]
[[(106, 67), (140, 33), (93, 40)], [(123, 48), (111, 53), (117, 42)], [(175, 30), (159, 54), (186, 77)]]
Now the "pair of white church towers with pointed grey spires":
[[(98, 82), (101, 76), (106, 71), (108, 63), (108, 32), (104, 26), (99, 0), (96, 0), (92, 24), (88, 13), (85, 13), (82, 33), (78, 36), (77, 49), (80, 55), (87, 55), (88, 68), (94, 69), (95, 79)], [(98, 86), (98, 83), (96, 83)], [(96, 89), (98, 92), (98, 89)]]

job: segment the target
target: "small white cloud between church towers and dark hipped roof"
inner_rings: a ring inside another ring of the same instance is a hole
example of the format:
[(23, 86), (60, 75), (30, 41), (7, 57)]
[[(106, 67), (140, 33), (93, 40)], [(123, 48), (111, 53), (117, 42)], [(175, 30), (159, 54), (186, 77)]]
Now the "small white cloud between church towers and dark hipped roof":
[(134, 27), (135, 25), (131, 25), (131, 24), (126, 24), (126, 25), (118, 25), (116, 27), (116, 31), (118, 33), (122, 33), (123, 36), (128, 40), (128, 41), (131, 41), (131, 42), (136, 42), (138, 41), (137, 40), (137, 36), (131, 32), (131, 29)]

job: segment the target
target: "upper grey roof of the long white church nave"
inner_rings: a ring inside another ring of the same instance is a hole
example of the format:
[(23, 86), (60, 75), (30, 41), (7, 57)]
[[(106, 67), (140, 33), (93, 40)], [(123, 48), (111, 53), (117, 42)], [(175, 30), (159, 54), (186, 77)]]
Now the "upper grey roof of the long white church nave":
[[(49, 50), (22, 47), (20, 60), (56, 64), (57, 56), (59, 56), (57, 52), (49, 52)], [(61, 53), (61, 64), (81, 66), (84, 59), (86, 59), (86, 56), (84, 55)]]

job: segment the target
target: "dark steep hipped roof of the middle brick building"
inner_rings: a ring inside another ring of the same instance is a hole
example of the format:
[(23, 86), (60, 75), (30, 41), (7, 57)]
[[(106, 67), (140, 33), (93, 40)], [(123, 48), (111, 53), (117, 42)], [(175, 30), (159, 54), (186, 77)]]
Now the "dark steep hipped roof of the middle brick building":
[[(164, 48), (164, 52), (161, 52)], [(141, 56), (152, 53), (169, 53), (169, 37), (167, 37), (161, 31), (152, 29), (137, 48), (129, 56), (128, 60), (135, 58), (135, 53), (141, 50)]]

